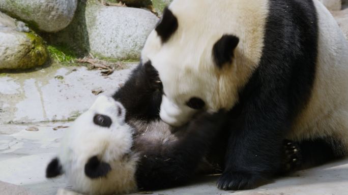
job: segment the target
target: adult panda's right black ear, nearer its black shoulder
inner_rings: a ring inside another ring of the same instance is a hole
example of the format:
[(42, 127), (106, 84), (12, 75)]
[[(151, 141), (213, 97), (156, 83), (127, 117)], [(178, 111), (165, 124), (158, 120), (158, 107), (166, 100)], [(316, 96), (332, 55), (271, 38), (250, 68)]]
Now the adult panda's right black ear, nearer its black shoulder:
[(216, 66), (222, 68), (226, 63), (231, 63), (234, 51), (239, 43), (239, 38), (234, 35), (223, 35), (213, 46), (213, 58)]

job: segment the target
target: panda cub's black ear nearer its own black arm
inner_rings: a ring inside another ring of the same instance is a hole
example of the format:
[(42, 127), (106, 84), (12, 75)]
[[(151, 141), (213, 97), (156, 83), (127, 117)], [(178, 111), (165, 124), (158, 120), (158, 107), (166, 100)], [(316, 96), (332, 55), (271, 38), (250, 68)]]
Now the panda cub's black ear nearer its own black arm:
[(91, 157), (84, 166), (84, 173), (91, 179), (106, 177), (110, 171), (110, 165), (100, 161), (98, 156)]

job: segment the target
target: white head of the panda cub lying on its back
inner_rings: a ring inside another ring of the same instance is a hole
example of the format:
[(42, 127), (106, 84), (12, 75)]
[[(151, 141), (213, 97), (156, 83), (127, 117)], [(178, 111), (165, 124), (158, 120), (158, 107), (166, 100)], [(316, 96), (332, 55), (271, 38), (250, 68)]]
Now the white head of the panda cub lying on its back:
[(125, 114), (122, 104), (99, 96), (67, 129), (46, 177), (64, 173), (74, 190), (88, 194), (134, 191), (138, 158), (131, 150), (133, 129)]

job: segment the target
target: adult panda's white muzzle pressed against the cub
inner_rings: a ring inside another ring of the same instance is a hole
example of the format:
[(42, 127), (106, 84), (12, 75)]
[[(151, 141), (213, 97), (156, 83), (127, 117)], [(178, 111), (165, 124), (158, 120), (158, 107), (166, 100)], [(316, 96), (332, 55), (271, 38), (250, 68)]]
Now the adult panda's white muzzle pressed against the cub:
[(172, 103), (165, 95), (162, 97), (160, 117), (163, 122), (171, 126), (182, 126), (194, 115), (193, 110), (186, 105), (178, 106)]

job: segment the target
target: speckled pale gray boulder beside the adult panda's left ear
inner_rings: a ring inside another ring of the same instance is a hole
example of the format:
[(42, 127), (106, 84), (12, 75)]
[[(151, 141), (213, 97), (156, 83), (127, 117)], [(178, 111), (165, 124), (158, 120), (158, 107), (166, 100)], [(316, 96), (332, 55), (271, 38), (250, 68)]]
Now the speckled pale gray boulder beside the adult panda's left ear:
[(90, 52), (115, 59), (138, 59), (159, 18), (149, 11), (94, 5), (86, 10)]

